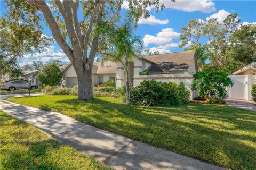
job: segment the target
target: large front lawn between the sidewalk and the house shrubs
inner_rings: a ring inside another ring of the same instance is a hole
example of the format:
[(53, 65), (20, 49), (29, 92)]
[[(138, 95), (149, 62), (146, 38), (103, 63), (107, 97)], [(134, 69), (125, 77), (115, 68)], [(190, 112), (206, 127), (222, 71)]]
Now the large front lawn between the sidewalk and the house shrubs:
[(10, 101), (51, 110), (107, 131), (229, 169), (256, 169), (256, 112), (226, 105), (125, 105), (117, 98), (31, 96)]

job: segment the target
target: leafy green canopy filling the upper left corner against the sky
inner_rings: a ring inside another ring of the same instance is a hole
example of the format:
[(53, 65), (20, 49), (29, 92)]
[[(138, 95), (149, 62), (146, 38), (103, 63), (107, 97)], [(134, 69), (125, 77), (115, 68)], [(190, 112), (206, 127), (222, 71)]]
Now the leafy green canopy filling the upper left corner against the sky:
[(8, 8), (0, 18), (0, 72), (17, 65), (17, 59), (27, 54), (41, 53), (52, 38), (42, 33), (42, 20), (36, 8), (25, 1), (4, 0)]

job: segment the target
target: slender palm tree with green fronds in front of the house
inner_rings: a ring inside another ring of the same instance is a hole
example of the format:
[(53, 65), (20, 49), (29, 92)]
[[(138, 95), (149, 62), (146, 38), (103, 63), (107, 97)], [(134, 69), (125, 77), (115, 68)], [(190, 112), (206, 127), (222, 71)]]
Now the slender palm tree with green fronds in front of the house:
[(109, 53), (103, 53), (103, 60), (118, 61), (124, 66), (126, 79), (126, 103), (130, 103), (129, 72), (128, 64), (131, 59), (140, 53), (143, 49), (143, 41), (138, 36), (133, 36), (133, 27), (131, 20), (126, 21), (124, 25), (114, 28), (111, 33), (110, 41), (113, 48)]

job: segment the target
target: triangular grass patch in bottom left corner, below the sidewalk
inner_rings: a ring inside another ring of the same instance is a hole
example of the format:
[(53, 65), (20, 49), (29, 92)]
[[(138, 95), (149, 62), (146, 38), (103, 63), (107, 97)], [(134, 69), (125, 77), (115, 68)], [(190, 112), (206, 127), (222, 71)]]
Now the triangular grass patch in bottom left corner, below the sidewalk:
[(110, 169), (0, 111), (0, 169)]

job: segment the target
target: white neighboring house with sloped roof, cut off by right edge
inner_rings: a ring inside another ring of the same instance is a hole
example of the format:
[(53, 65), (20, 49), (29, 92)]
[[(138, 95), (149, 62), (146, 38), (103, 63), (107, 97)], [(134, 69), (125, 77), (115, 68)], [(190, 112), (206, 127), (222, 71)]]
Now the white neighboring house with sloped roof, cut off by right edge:
[(230, 75), (233, 87), (228, 87), (228, 99), (251, 100), (252, 85), (256, 84), (256, 62), (246, 65)]

